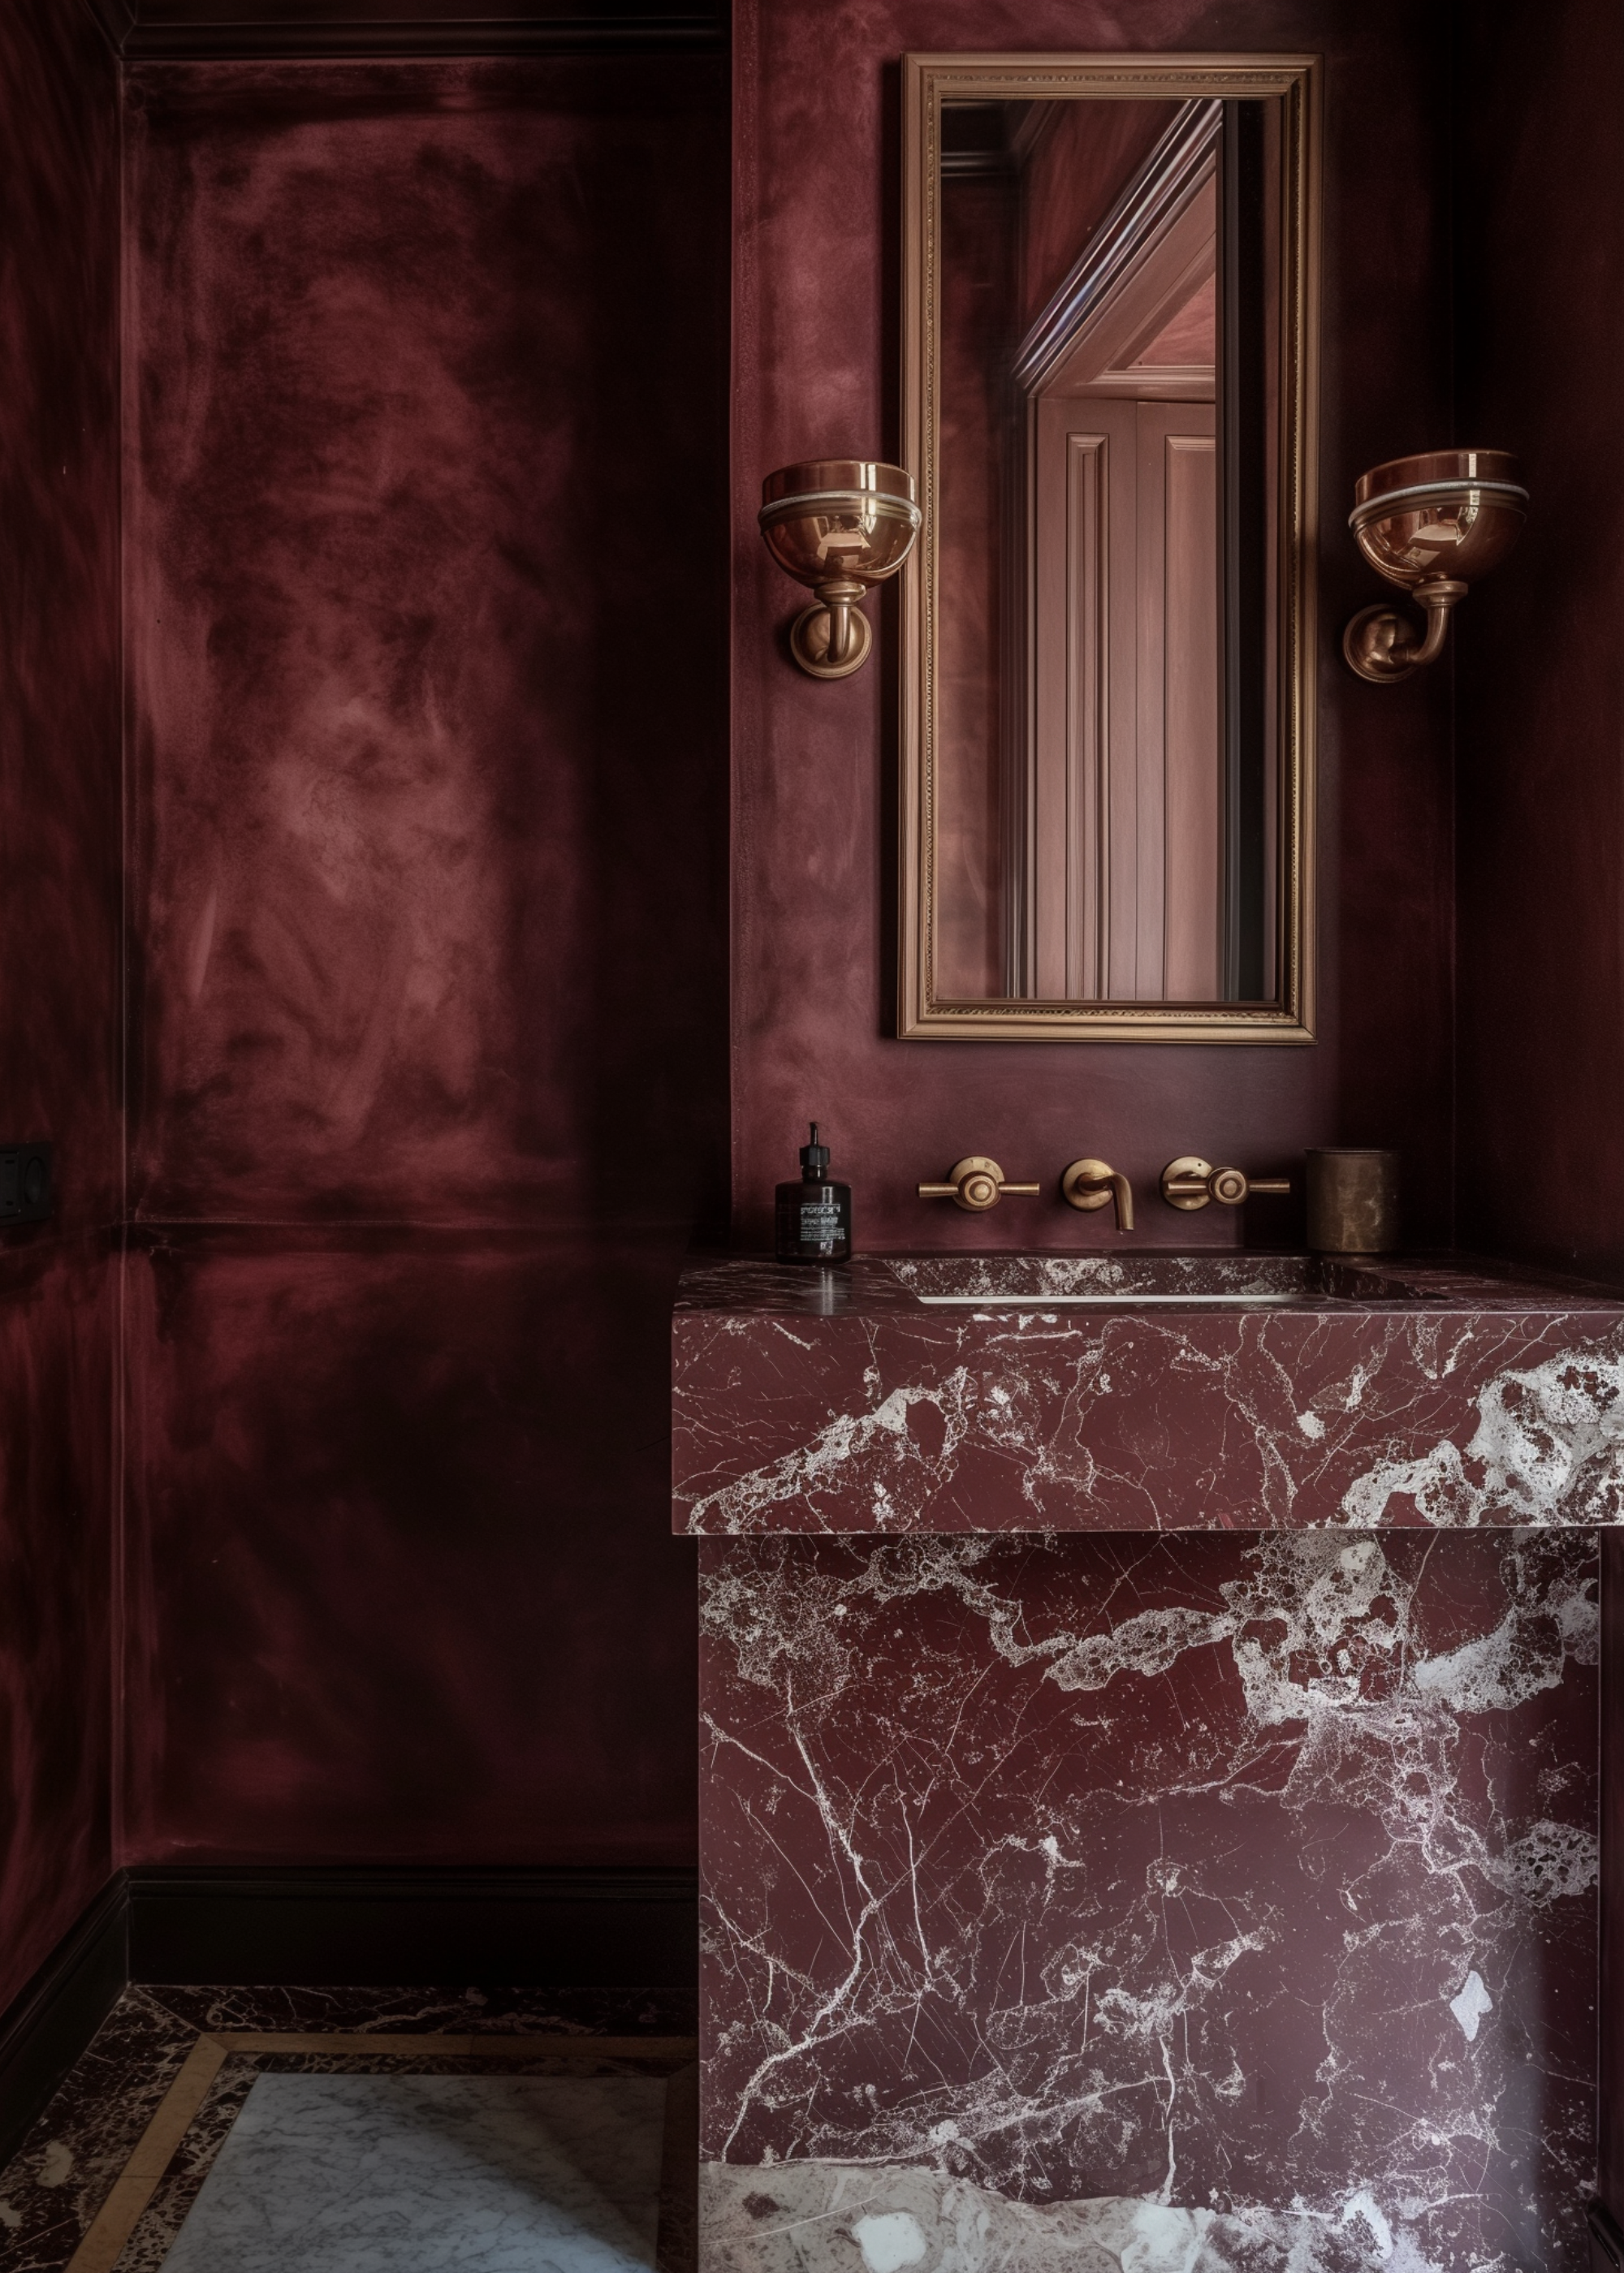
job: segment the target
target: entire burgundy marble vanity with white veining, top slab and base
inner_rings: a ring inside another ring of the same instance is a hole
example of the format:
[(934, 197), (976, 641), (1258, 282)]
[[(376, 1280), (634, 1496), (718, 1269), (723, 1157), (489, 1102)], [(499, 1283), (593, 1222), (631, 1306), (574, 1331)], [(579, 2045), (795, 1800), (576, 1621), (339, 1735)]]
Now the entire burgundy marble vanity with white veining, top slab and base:
[(1624, 1300), (701, 1262), (703, 2262), (1581, 2266)]

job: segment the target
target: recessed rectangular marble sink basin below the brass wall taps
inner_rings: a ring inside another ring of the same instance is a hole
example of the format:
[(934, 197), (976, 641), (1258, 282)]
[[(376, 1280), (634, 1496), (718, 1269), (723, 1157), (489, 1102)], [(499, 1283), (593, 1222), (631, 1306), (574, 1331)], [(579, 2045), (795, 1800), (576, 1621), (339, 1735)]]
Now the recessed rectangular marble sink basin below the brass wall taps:
[(885, 1266), (917, 1302), (942, 1309), (1415, 1300), (1394, 1271), (1317, 1255), (910, 1255)]

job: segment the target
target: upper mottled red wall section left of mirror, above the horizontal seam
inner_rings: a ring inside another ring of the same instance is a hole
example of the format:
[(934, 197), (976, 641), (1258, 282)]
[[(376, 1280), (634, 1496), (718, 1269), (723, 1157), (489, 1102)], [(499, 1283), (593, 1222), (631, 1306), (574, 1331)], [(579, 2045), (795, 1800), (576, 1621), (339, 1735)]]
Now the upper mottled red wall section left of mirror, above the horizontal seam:
[(687, 1216), (712, 75), (130, 73), (134, 1214)]

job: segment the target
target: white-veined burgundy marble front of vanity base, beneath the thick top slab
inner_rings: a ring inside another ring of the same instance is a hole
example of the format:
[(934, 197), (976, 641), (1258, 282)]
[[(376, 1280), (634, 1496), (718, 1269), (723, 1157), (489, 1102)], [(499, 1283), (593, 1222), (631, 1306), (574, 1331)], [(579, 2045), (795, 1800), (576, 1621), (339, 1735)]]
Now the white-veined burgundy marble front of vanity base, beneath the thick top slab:
[(707, 2155), (1576, 2264), (1594, 1589), (1538, 1530), (716, 1543)]

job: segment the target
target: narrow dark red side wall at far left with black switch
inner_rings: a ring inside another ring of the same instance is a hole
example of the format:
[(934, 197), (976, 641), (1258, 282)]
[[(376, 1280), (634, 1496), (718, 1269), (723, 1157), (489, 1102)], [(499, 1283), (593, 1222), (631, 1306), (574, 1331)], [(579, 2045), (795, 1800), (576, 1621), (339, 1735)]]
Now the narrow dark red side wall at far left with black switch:
[(0, 16), (0, 2005), (109, 1873), (118, 1218), (118, 100), (91, 18)]

